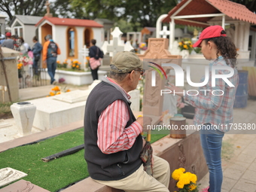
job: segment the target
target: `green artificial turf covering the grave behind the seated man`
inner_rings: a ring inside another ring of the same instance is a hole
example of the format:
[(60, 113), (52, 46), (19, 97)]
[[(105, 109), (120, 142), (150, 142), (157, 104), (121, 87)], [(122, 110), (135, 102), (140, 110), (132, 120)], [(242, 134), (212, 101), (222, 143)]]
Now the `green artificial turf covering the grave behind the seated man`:
[[(151, 134), (151, 143), (166, 134)], [(84, 149), (47, 163), (41, 158), (59, 153), (84, 143), (84, 128), (46, 139), (33, 145), (11, 148), (0, 153), (0, 169), (11, 167), (26, 172), (26, 181), (44, 189), (56, 191), (76, 181), (87, 178)]]

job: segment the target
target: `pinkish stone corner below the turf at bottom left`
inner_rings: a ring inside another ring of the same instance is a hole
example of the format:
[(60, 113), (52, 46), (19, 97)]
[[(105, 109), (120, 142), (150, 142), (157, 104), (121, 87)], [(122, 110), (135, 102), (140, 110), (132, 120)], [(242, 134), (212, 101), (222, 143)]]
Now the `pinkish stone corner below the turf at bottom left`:
[(42, 187), (38, 187), (35, 184), (32, 184), (29, 181), (25, 181), (21, 179), (13, 184), (10, 184), (2, 189), (0, 192), (50, 192), (49, 190), (45, 190)]

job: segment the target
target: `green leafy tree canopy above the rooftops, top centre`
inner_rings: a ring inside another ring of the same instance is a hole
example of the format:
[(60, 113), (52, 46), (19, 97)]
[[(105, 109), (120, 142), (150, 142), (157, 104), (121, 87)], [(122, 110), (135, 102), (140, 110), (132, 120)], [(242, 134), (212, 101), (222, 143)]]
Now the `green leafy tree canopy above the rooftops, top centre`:
[(168, 13), (177, 0), (73, 0), (73, 8), (84, 8), (85, 17), (94, 20), (123, 20), (131, 23), (133, 31), (140, 27), (155, 26), (161, 14)]

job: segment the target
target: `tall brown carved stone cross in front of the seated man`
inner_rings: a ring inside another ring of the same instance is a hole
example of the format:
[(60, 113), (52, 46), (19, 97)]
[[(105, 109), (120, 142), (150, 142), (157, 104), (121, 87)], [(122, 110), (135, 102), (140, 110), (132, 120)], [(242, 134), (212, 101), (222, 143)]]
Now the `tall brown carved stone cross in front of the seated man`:
[[(160, 96), (160, 90), (165, 90), (167, 85), (166, 78), (161, 78), (159, 73), (155, 73), (152, 67), (156, 67), (150, 62), (157, 63), (161, 66), (163, 63), (174, 63), (181, 66), (181, 56), (171, 55), (168, 50), (169, 40), (167, 38), (149, 38), (148, 50), (143, 55), (139, 55), (139, 58), (143, 60), (143, 66), (147, 69), (145, 73), (145, 87), (143, 96), (143, 114), (151, 116), (152, 123), (156, 124), (160, 121), (160, 116), (163, 112), (163, 96)], [(149, 67), (150, 66), (150, 67)], [(172, 67), (163, 67), (166, 74)], [(153, 87), (152, 74), (156, 75), (155, 86)], [(170, 94), (169, 94), (170, 95)], [(172, 111), (169, 111), (172, 113)]]

